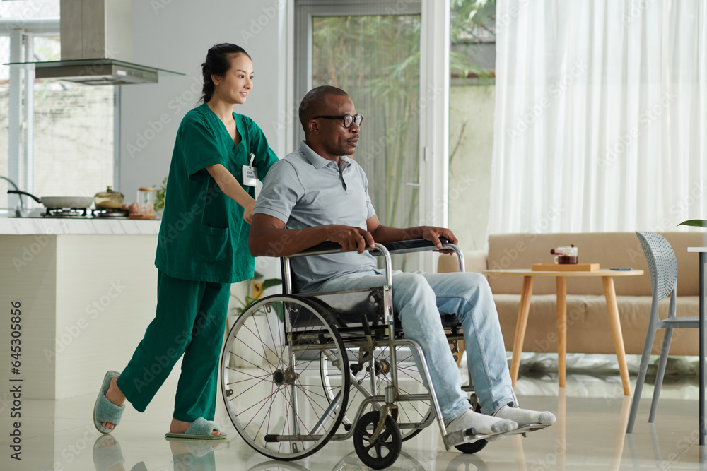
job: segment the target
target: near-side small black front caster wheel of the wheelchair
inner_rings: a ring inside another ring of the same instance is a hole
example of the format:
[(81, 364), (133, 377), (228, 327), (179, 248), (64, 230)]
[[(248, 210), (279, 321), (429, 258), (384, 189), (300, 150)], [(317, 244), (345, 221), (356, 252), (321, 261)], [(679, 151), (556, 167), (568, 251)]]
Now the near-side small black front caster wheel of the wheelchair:
[(385, 417), (385, 424), (383, 424), (378, 439), (370, 440), (378, 427), (379, 420), (380, 412), (368, 412), (356, 422), (354, 428), (356, 455), (364, 465), (372, 467), (374, 470), (381, 470), (395, 463), (402, 450), (400, 429), (390, 415)]

